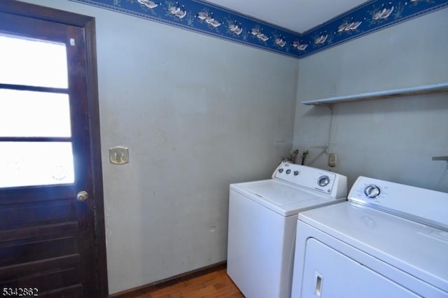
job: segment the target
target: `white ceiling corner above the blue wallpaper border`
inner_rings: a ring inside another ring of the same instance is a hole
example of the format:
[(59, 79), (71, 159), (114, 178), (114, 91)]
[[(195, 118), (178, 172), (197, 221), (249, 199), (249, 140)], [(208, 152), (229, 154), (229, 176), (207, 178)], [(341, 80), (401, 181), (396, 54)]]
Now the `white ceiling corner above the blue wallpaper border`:
[(366, 2), (366, 0), (207, 1), (299, 33)]

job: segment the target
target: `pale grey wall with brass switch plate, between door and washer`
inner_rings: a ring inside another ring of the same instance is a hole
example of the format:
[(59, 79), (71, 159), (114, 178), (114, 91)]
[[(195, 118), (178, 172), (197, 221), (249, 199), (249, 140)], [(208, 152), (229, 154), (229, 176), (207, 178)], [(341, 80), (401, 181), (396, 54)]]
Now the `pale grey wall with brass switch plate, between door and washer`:
[[(109, 291), (226, 260), (230, 183), (293, 141), (298, 61), (66, 0), (96, 18)], [(109, 163), (125, 146), (130, 163)]]

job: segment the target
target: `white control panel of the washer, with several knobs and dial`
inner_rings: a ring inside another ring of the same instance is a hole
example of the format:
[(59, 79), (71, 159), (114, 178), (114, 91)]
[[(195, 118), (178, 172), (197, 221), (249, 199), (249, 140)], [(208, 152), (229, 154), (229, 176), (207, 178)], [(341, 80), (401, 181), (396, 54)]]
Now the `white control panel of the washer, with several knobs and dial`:
[[(346, 177), (337, 173), (291, 164), (280, 164), (272, 178), (287, 181), (301, 187), (307, 187), (320, 193), (334, 197), (346, 196)], [(344, 193), (345, 192), (345, 193)]]

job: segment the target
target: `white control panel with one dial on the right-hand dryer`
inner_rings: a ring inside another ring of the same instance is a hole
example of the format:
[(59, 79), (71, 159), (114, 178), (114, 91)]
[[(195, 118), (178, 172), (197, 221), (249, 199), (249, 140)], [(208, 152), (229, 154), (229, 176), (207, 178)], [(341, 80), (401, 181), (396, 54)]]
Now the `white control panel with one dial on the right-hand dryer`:
[(348, 199), (404, 218), (448, 228), (448, 193), (445, 192), (360, 176), (351, 187)]

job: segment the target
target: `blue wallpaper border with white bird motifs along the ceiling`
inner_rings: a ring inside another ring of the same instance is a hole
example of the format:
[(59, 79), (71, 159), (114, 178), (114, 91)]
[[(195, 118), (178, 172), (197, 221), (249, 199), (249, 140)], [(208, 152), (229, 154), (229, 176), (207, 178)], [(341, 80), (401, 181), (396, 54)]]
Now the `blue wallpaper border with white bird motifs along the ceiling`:
[(448, 0), (370, 0), (302, 34), (200, 0), (70, 0), (302, 58), (448, 6)]

